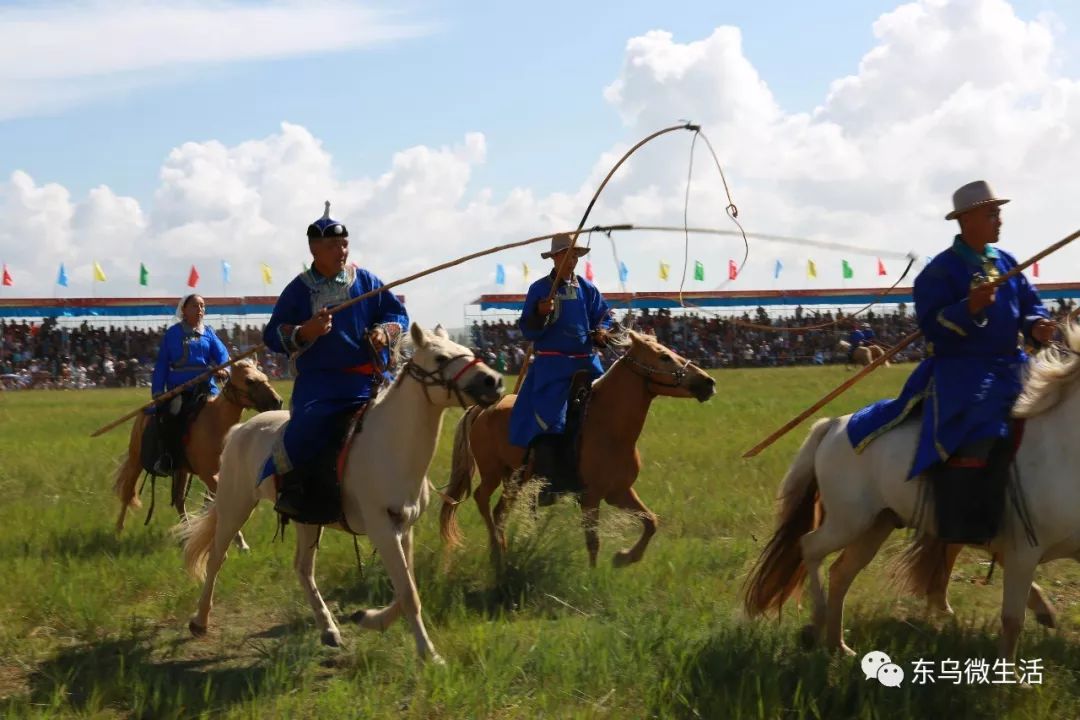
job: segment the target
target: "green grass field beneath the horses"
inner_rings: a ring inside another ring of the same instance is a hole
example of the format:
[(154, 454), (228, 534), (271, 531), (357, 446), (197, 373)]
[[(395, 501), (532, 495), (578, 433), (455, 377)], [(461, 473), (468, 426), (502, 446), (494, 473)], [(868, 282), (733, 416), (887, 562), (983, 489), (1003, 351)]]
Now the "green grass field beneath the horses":
[[(876, 372), (834, 415), (894, 393), (908, 368)], [(800, 429), (753, 461), (740, 458), (846, 377), (841, 368), (732, 370), (699, 405), (659, 399), (640, 449), (637, 489), (660, 515), (645, 559), (623, 570), (610, 555), (636, 522), (607, 518), (602, 562), (589, 570), (579, 515), (562, 503), (514, 522), (509, 568), (495, 578), (474, 506), (468, 544), (442, 561), (437, 513), (418, 528), (423, 611), (445, 667), (418, 662), (407, 625), (374, 634), (342, 623), (346, 648), (319, 642), (292, 571), (293, 533), (272, 543), (270, 507), (245, 528), (248, 555), (231, 553), (207, 637), (187, 619), (198, 585), (168, 534), (166, 490), (149, 526), (139, 513), (113, 533), (111, 474), (126, 429), (90, 432), (146, 391), (0, 395), (0, 717), (92, 718), (1075, 718), (1080, 717), (1080, 572), (1059, 563), (1038, 580), (1063, 629), (1025, 624), (1020, 656), (1041, 658), (1031, 687), (867, 681), (858, 658), (805, 650), (807, 610), (748, 622), (742, 581), (771, 531), (772, 498), (801, 443)], [(288, 388), (280, 389), (287, 394)], [(446, 481), (448, 412), (431, 468)], [(149, 487), (144, 494), (148, 500)], [(197, 504), (194, 498), (189, 505)], [(148, 504), (148, 503), (147, 503)], [(437, 510), (437, 505), (436, 505)], [(883, 555), (900, 547), (894, 533)], [(386, 604), (389, 581), (361, 540), (323, 540), (316, 573), (338, 620)], [(910, 668), (922, 657), (993, 661), (1000, 571), (967, 552), (954, 574), (955, 620), (923, 617), (899, 596), (878, 558), (849, 596), (848, 644), (882, 650)]]

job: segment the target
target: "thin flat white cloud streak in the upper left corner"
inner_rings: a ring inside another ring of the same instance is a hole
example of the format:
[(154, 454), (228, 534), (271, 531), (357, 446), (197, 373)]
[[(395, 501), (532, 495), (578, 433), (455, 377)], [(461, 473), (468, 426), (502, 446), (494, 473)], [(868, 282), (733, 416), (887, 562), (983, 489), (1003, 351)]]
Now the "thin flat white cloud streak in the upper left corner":
[(193, 66), (368, 47), (432, 31), (349, 0), (67, 0), (0, 5), (0, 119)]

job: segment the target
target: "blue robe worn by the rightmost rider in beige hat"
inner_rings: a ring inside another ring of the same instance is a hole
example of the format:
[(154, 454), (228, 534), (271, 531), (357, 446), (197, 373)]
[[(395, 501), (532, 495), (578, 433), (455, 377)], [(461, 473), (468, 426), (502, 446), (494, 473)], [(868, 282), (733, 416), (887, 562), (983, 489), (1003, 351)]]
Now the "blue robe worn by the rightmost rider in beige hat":
[(1027, 361), (1017, 337), (1023, 334), (1034, 344), (1032, 326), (1050, 314), (1023, 274), (998, 286), (994, 303), (978, 316), (968, 312), (967, 297), (974, 283), (1015, 267), (1008, 253), (987, 245), (980, 256), (958, 235), (919, 273), (915, 314), (927, 340), (927, 358), (899, 397), (851, 417), (848, 438), (856, 452), (920, 406), (922, 427), (908, 477), (948, 460), (969, 443), (1008, 435)]

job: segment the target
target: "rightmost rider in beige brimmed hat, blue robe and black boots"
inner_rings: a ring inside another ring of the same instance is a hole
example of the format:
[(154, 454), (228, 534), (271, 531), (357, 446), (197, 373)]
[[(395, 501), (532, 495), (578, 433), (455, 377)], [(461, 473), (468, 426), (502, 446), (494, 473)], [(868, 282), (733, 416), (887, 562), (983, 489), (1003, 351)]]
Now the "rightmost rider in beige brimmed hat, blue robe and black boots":
[(994, 247), (1000, 207), (1008, 202), (982, 180), (954, 193), (945, 219), (957, 220), (960, 234), (915, 280), (927, 357), (897, 398), (863, 408), (848, 423), (859, 452), (921, 404), (908, 477), (928, 474), (936, 534), (946, 542), (985, 543), (997, 534), (1014, 449), (1009, 416), (1027, 359), (1017, 337), (1040, 347), (1054, 336), (1049, 313), (1023, 274), (988, 285), (1017, 264)]

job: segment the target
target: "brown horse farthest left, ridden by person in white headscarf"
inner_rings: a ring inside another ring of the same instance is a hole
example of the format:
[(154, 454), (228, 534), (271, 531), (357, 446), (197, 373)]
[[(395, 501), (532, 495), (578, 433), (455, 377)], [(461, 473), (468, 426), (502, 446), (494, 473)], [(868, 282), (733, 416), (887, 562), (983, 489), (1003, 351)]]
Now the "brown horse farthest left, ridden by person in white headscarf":
[[(244, 408), (253, 408), (264, 412), (266, 410), (280, 410), (281, 404), (281, 396), (270, 386), (270, 381), (254, 362), (245, 359), (232, 366), (232, 372), (229, 375), (225, 388), (216, 396), (206, 400), (206, 405), (191, 421), (190, 440), (185, 448), (187, 462), (173, 478), (173, 501), (176, 511), (181, 516), (184, 515), (184, 488), (187, 488), (190, 474), (198, 475), (212, 493), (217, 492), (217, 471), (221, 466), (221, 448), (225, 447), (225, 435), (230, 427), (240, 422), (240, 416)], [(139, 461), (143, 432), (150, 420), (150, 416), (147, 415), (135, 418), (132, 423), (131, 439), (127, 441), (127, 456), (117, 471), (113, 485), (113, 490), (120, 498), (117, 532), (124, 529), (127, 508), (141, 506), (141, 502), (135, 494), (135, 486), (138, 484), (138, 476), (143, 473), (143, 463)]]

